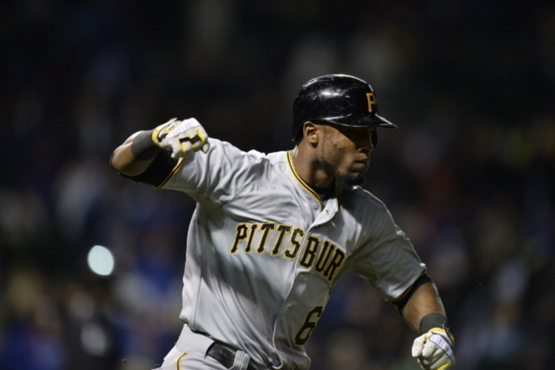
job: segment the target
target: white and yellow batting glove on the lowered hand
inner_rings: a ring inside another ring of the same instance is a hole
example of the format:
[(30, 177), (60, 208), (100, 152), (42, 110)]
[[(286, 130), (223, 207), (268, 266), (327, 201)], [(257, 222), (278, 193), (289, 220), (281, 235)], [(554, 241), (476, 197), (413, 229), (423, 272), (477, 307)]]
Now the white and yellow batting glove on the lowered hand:
[(447, 370), (455, 363), (454, 339), (443, 328), (432, 328), (414, 339), (412, 357), (425, 370)]

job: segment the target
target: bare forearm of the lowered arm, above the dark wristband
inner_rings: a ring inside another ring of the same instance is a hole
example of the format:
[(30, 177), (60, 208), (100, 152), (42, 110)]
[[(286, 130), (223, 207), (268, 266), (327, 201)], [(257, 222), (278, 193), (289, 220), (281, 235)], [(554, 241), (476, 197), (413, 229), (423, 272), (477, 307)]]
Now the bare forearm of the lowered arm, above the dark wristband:
[(420, 321), (431, 313), (442, 314), (445, 317), (445, 308), (441, 303), (436, 285), (425, 283), (413, 293), (403, 308), (402, 316), (412, 330), (420, 333)]

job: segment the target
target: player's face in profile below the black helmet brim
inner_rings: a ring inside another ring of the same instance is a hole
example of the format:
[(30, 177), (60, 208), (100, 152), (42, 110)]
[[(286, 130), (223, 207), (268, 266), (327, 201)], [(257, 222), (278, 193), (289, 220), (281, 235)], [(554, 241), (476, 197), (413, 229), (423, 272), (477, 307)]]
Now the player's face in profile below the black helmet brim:
[(371, 135), (373, 127), (321, 125), (323, 142), (321, 160), (328, 176), (350, 185), (364, 183), (364, 174), (374, 151)]

